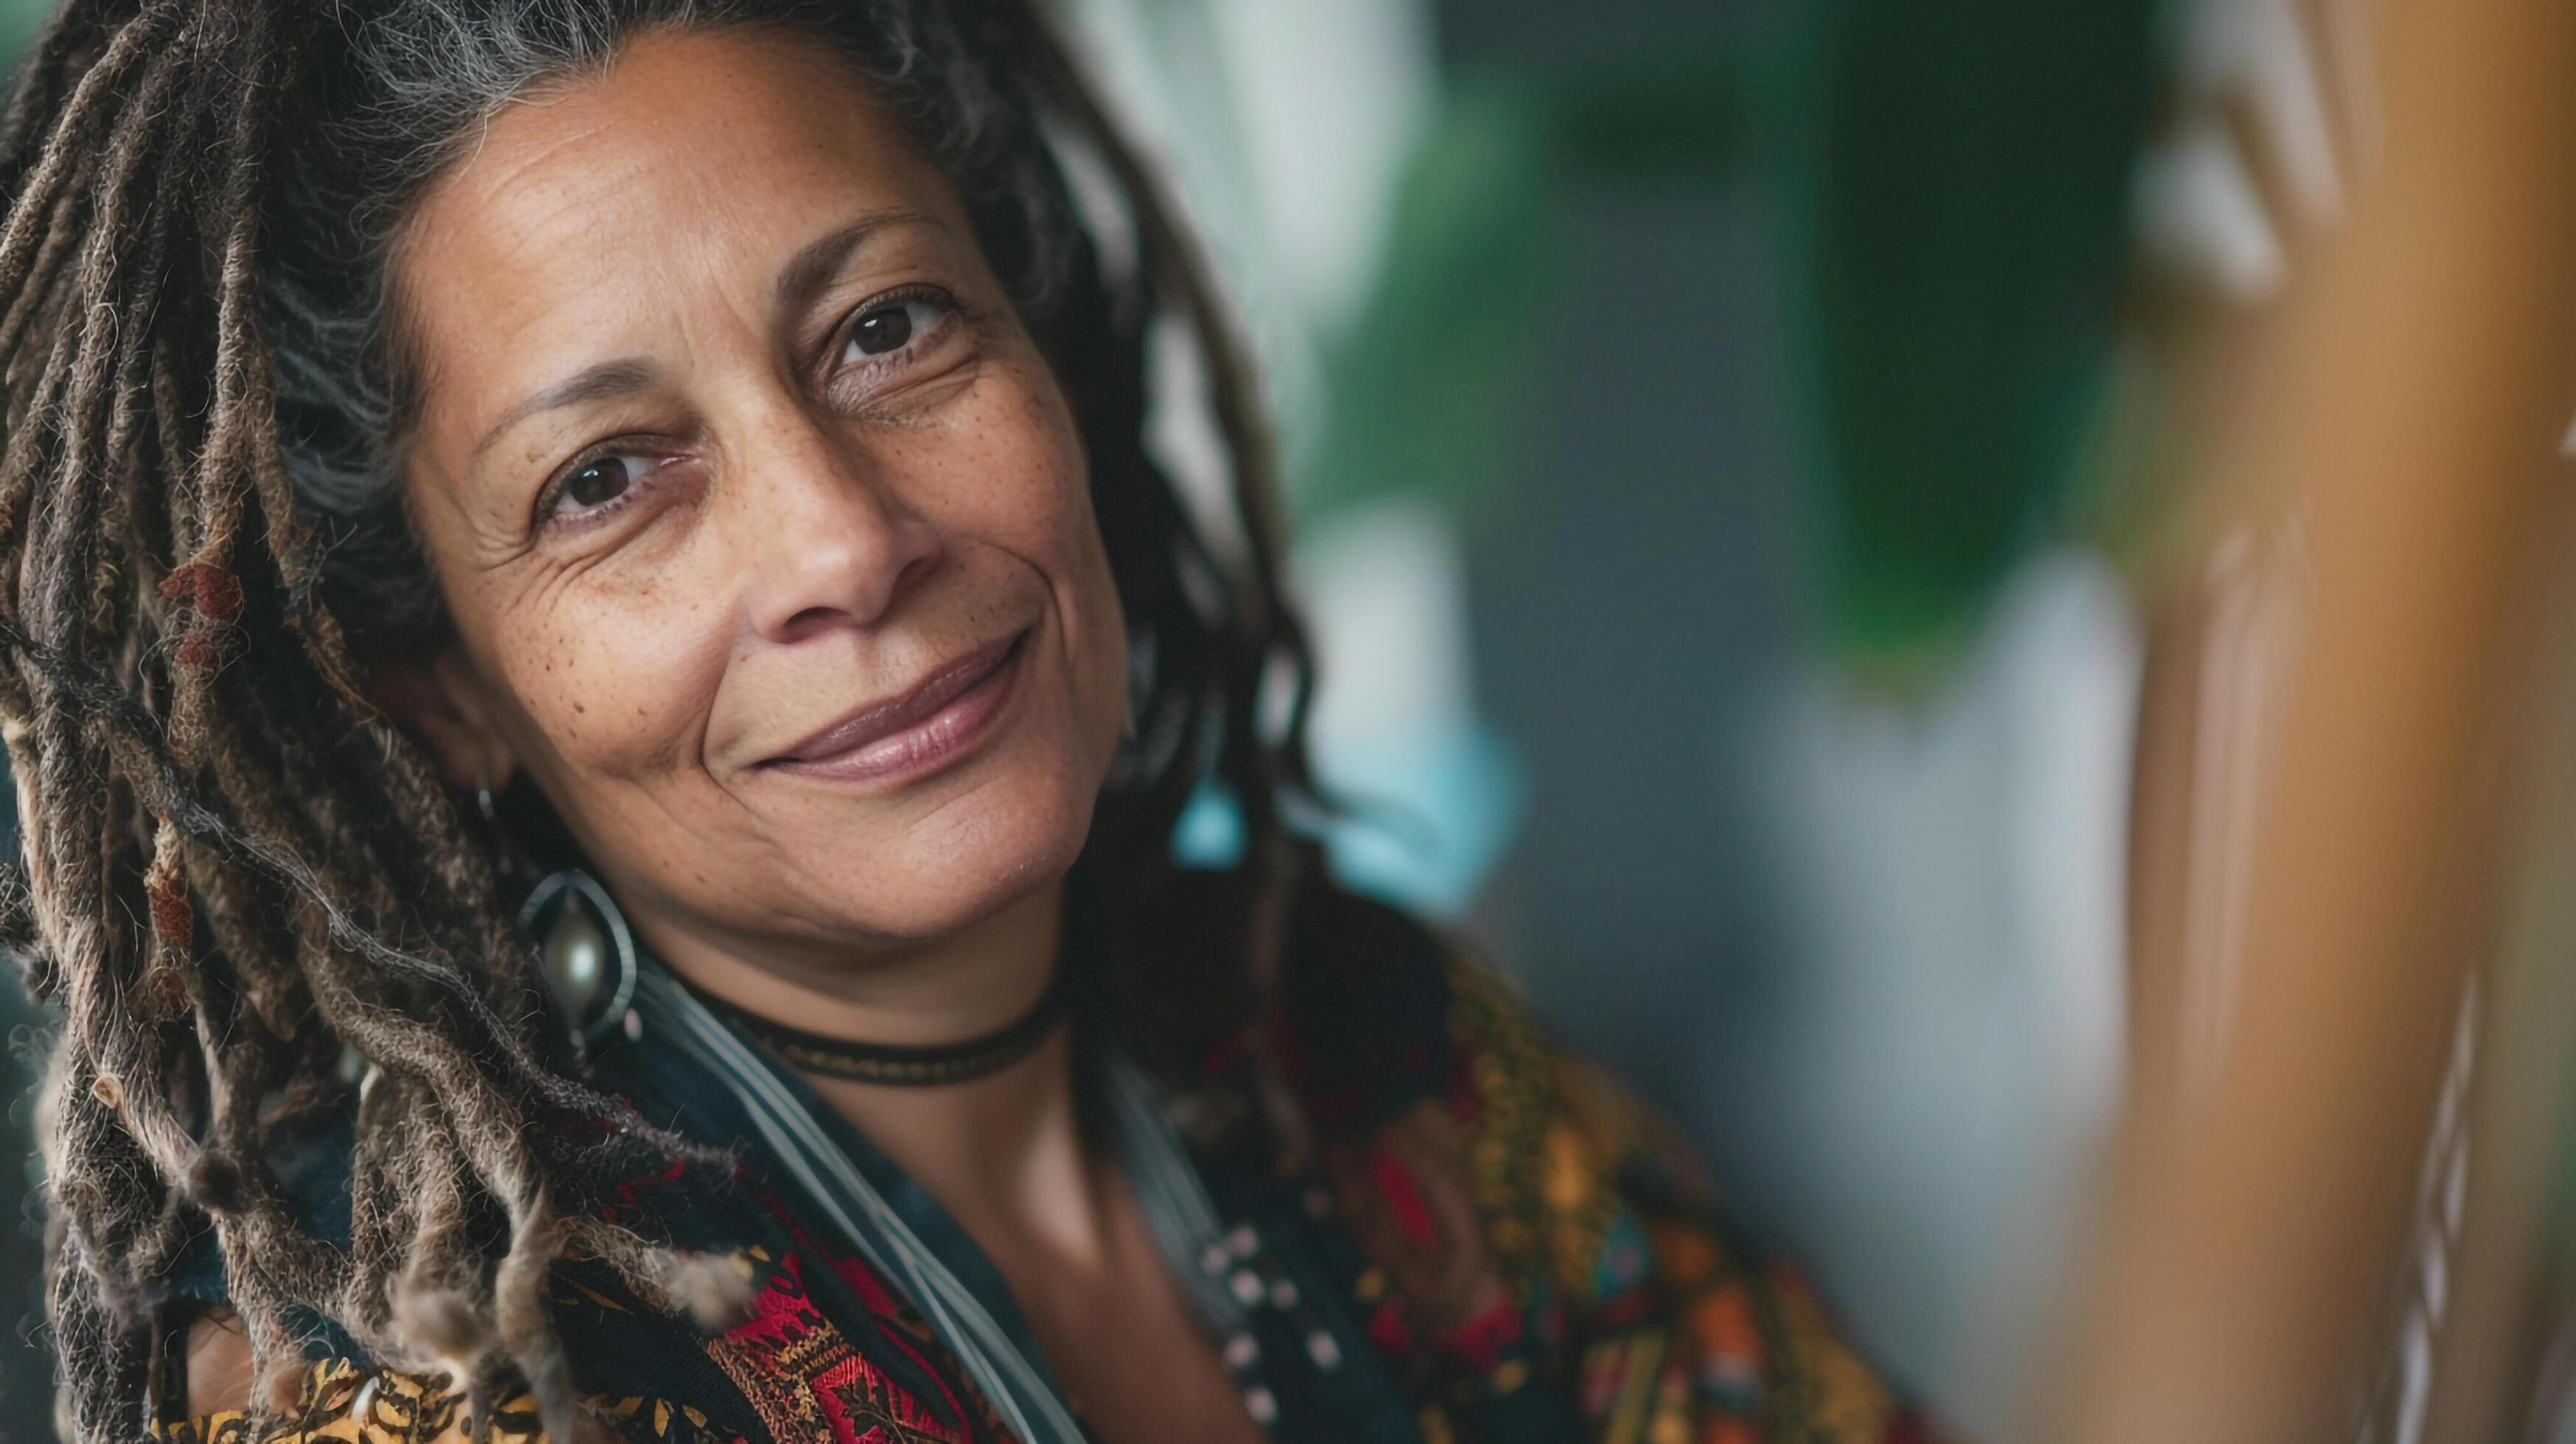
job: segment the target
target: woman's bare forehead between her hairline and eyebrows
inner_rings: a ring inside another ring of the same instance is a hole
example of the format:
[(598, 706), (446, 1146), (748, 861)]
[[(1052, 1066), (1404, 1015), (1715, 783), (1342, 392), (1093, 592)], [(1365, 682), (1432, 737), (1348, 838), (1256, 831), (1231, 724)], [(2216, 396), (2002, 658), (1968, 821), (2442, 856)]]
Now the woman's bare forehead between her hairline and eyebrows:
[(760, 31), (652, 33), (495, 116), (422, 196), (397, 291), (433, 391), (461, 386), (443, 399), (471, 425), (595, 350), (667, 345), (690, 311), (765, 311), (817, 242), (868, 219), (920, 221), (884, 227), (917, 232), (912, 250), (969, 234), (848, 64)]

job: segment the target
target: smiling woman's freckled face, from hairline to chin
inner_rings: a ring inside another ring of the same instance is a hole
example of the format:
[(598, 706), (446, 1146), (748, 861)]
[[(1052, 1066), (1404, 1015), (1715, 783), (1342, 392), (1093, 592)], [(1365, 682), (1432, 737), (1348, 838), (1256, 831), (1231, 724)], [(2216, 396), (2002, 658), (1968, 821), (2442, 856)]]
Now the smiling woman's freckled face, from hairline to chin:
[(456, 625), (407, 710), (459, 780), (526, 767), (708, 945), (840, 958), (1061, 878), (1126, 708), (1082, 443), (837, 57), (639, 39), (510, 106), (394, 283)]

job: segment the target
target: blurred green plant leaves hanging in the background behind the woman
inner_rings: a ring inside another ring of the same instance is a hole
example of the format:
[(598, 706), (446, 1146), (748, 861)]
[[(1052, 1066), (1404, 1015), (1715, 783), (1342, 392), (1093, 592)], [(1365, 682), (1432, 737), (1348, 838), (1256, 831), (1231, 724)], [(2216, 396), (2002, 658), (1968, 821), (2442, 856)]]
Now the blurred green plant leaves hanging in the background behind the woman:
[(1759, 46), (1458, 80), (1370, 304), (1324, 350), (1298, 512), (1515, 479), (1584, 185), (1770, 185), (1821, 638), (1937, 664), (2069, 520), (2154, 31), (2154, 0), (1834, 0)]

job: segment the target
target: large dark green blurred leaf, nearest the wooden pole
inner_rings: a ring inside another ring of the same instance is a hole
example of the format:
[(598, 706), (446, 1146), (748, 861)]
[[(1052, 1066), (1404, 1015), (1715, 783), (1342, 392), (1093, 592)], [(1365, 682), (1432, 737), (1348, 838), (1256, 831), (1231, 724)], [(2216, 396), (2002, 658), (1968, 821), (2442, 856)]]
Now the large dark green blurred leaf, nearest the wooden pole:
[(1785, 270), (1844, 654), (1965, 636), (2110, 373), (2154, 0), (1837, 0), (1790, 67)]

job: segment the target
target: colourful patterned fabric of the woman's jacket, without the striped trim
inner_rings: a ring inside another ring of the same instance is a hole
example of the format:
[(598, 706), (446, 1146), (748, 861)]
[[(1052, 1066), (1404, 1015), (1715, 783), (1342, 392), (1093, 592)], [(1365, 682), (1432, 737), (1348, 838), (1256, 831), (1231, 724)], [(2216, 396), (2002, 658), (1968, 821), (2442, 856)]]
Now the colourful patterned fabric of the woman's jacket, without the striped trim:
[[(554, 1308), (592, 1423), (631, 1444), (1010, 1436), (917, 1300), (775, 1187), (752, 1130), (652, 1032), (598, 1068), (647, 1117), (737, 1148), (734, 1179), (636, 1179), (621, 1207), (685, 1217), (750, 1274), (752, 1297), (739, 1323), (701, 1333), (605, 1269), (562, 1264)], [(1275, 1009), (1213, 1035), (1193, 1068), (1200, 1122), (1229, 1107), (1270, 1117), (1185, 1133), (1224, 1220), (1203, 1266), (1247, 1305), (1221, 1351), (1273, 1439), (1929, 1439), (1808, 1284), (1726, 1223), (1690, 1151), (1414, 921), (1309, 896)], [(332, 1151), (314, 1156), (327, 1169)], [(958, 1264), (999, 1290), (976, 1269), (989, 1264)], [(219, 1302), (219, 1261), (204, 1274), (193, 1295)], [(489, 1423), (505, 1444), (541, 1434), (526, 1398)], [(446, 1444), (466, 1405), (317, 1328), (283, 1418), (160, 1429), (170, 1444)]]

